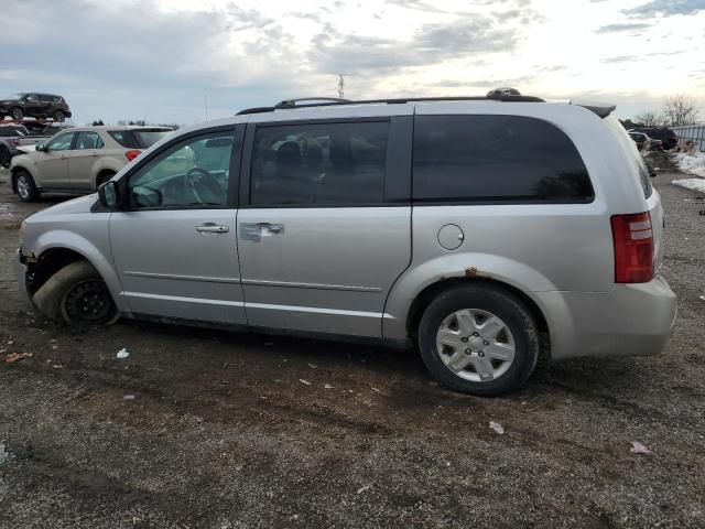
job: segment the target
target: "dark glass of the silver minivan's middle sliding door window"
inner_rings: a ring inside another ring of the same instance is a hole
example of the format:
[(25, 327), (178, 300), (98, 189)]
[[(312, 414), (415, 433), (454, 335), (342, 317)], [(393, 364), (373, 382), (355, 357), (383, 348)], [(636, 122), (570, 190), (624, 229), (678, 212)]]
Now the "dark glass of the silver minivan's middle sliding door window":
[(384, 202), (389, 122), (258, 127), (252, 205)]

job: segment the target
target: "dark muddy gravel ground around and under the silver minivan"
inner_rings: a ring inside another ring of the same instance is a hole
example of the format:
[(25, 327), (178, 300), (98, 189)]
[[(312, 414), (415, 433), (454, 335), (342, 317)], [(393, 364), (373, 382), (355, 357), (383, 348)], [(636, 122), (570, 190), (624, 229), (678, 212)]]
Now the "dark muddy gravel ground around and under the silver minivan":
[(33, 356), (0, 364), (0, 527), (705, 527), (705, 202), (659, 164), (665, 353), (550, 364), (502, 399), (437, 387), (412, 352), (55, 326), (9, 260), (61, 198), (21, 205), (1, 172), (0, 355)]

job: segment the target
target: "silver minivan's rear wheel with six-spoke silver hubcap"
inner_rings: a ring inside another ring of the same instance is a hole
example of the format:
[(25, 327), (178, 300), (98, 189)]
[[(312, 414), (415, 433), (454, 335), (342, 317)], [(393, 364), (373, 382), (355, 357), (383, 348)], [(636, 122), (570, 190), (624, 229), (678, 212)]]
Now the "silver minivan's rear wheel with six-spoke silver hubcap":
[(533, 371), (540, 343), (524, 304), (489, 284), (441, 293), (419, 325), (419, 349), (438, 382), (485, 397), (519, 389)]

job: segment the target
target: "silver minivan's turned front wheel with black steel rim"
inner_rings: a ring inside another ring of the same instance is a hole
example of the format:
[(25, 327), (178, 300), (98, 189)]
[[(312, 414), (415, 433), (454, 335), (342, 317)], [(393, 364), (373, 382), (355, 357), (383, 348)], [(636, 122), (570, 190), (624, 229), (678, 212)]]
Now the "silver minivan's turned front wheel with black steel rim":
[(52, 320), (82, 327), (115, 323), (118, 311), (110, 291), (88, 261), (75, 261), (52, 276), (32, 298)]

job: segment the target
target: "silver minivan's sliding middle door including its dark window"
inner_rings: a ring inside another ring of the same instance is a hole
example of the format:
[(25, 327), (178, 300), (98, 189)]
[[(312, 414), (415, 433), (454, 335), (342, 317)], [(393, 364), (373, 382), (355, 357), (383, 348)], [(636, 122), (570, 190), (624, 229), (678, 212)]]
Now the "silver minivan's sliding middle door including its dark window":
[(248, 323), (381, 336), (411, 260), (411, 117), (248, 127), (238, 213)]

